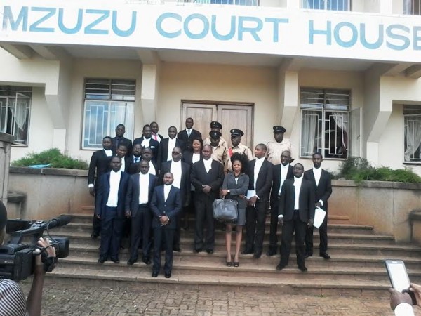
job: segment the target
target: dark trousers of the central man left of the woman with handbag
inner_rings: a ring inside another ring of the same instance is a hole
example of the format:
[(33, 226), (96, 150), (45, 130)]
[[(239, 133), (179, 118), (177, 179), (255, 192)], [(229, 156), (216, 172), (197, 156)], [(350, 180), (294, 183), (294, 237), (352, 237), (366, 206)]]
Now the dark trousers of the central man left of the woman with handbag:
[[(202, 196), (203, 197), (203, 196)], [(206, 227), (206, 238), (204, 247), (206, 250), (213, 250), (215, 246), (215, 223), (212, 209), (213, 198), (206, 200), (195, 199), (196, 228), (194, 230), (194, 249), (203, 249), (203, 228)]]

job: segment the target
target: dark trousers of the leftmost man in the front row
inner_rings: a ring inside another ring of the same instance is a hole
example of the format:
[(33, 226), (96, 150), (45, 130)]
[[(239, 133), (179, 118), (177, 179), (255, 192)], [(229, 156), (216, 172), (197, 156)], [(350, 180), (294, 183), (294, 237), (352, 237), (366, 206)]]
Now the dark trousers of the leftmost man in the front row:
[(116, 207), (105, 206), (105, 212), (101, 218), (101, 257), (119, 258), (123, 220), (117, 217)]

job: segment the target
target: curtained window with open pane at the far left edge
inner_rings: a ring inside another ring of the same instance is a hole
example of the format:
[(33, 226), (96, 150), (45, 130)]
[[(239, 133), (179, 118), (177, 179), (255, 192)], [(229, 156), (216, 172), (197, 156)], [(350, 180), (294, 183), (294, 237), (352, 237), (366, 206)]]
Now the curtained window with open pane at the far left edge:
[(27, 145), (32, 87), (0, 86), (0, 131)]

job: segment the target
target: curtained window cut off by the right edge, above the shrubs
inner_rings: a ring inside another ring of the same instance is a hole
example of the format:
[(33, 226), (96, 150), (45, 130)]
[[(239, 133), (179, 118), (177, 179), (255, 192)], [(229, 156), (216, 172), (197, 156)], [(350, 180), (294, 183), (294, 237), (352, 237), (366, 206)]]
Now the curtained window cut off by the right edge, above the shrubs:
[(421, 162), (421, 107), (403, 107), (403, 161)]

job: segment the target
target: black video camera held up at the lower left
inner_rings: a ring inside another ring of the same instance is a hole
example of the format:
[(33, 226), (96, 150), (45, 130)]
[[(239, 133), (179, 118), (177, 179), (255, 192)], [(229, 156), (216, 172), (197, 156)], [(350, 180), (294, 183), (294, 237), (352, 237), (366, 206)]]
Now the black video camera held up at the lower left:
[[(21, 281), (34, 273), (34, 251), (38, 248), (36, 243), (43, 237), (44, 230), (55, 249), (56, 258), (69, 256), (69, 238), (51, 237), (49, 229), (67, 225), (72, 217), (62, 215), (51, 220), (8, 220), (6, 232), (10, 240), (0, 246), (0, 277)], [(45, 265), (46, 252), (41, 253)]]

